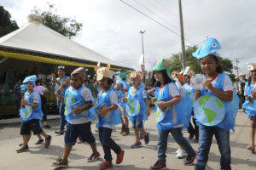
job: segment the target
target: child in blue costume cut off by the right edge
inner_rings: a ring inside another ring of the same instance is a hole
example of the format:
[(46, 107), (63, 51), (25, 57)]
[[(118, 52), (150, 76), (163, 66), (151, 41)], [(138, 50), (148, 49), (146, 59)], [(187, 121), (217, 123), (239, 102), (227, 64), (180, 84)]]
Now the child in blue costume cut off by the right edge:
[[(251, 150), (252, 153), (255, 152), (254, 148), (254, 138), (256, 129), (256, 63), (248, 63), (247, 69), (249, 71), (248, 82), (246, 82), (244, 95), (246, 97), (245, 103), (242, 107), (250, 119), (250, 144), (247, 146), (247, 150)], [(249, 104), (254, 104), (250, 107)]]

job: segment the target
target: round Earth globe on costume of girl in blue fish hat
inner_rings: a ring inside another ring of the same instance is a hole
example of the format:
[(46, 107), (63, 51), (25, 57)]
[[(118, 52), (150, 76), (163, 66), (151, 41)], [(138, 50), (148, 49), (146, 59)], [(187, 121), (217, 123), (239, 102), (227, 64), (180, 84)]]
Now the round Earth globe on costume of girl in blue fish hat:
[(195, 117), (201, 124), (215, 126), (224, 119), (224, 103), (218, 97), (204, 95), (195, 101), (194, 112)]

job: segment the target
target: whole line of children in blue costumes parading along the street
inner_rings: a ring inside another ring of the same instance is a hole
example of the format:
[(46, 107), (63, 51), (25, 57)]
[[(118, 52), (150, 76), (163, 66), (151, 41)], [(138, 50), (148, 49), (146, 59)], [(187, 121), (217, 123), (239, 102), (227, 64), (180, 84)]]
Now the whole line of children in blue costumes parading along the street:
[[(65, 81), (65, 74), (61, 75), (61, 71), (64, 71), (63, 68), (65, 67), (59, 66), (61, 78), (56, 79), (54, 77), (55, 84), (52, 86), (52, 90), (55, 90), (58, 105), (62, 108), (60, 112), (63, 112), (65, 120), (61, 116), (61, 127), (55, 133), (64, 133), (64, 122), (67, 122), (67, 130), (64, 136), (63, 156), (58, 157), (51, 166), (68, 166), (68, 156), (73, 145), (77, 143), (77, 139), (80, 142), (90, 144), (91, 155), (87, 160), (88, 162), (99, 159), (100, 153), (96, 147), (96, 139), (91, 132), (91, 122), (94, 118), (96, 118), (96, 127), (105, 159), (99, 168), (103, 170), (113, 167), (111, 150), (116, 154), (115, 163), (120, 164), (124, 160), (125, 150), (111, 138), (114, 126), (122, 123), (121, 134), (125, 136), (130, 133), (128, 120), (130, 118), (131, 127), (135, 134), (135, 143), (131, 144), (131, 148), (142, 147), (140, 139), (144, 139), (144, 144), (148, 144), (149, 133), (144, 128), (143, 122), (147, 121), (148, 116), (150, 116), (147, 94), (154, 93), (158, 144), (157, 161), (150, 169), (166, 168), (167, 139), (171, 133), (179, 146), (177, 157), (183, 158), (183, 154), (187, 154), (183, 162), (185, 166), (193, 165), (196, 159), (196, 170), (205, 169), (207, 166), (212, 137), (215, 135), (221, 155), (220, 167), (224, 170), (230, 170), (230, 129), (234, 130), (235, 127), (239, 100), (234, 93), (230, 77), (222, 72), (221, 65), (219, 65), (217, 57), (219, 48), (220, 44), (217, 39), (210, 37), (193, 53), (193, 56), (199, 59), (201, 76), (205, 77), (205, 81), (198, 84), (203, 88), (192, 86), (190, 80), (194, 71), (189, 67), (181, 74), (179, 72), (171, 73), (171, 64), (166, 59), (160, 59), (154, 65), (152, 78), (154, 88), (148, 92), (143, 88), (142, 76), (139, 72), (132, 71), (130, 73), (131, 87), (129, 87), (129, 82), (126, 82), (128, 75), (124, 70), (121, 70), (120, 81), (116, 86), (113, 86), (110, 65), (102, 68), (97, 66), (95, 71), (99, 92), (96, 101), (92, 97), (90, 89), (84, 85), (86, 74), (83, 67), (79, 67), (71, 73), (70, 85), (68, 85), (69, 80), (68, 83)], [(246, 82), (246, 101), (243, 107), (248, 114), (251, 126), (247, 150), (254, 152), (256, 63), (248, 64), (247, 68), (250, 77)], [(36, 76), (31, 76), (26, 77), (23, 81), (26, 84), (26, 93), (22, 96), (20, 109), (20, 135), (22, 135), (23, 144), (20, 144), (20, 149), (16, 150), (17, 153), (29, 150), (28, 141), (32, 133), (37, 134), (39, 138), (41, 138), (40, 135), (44, 136), (45, 148), (48, 148), (51, 142), (51, 136), (43, 131), (40, 124), (40, 119), (44, 113), (41, 109), (40, 94), (34, 89), (36, 80)], [(64, 87), (65, 90), (62, 89)], [(210, 100), (211, 97), (215, 100)], [(218, 117), (216, 120), (213, 120), (214, 117), (209, 115), (214, 108), (210, 108), (212, 110), (209, 112), (207, 101), (216, 101), (218, 106), (223, 108), (219, 113), (214, 113)], [(205, 114), (207, 119), (202, 114)], [(191, 115), (193, 116), (193, 126), (190, 123)], [(199, 142), (198, 150), (194, 150), (189, 141), (183, 137), (182, 130), (184, 128), (189, 131), (189, 139), (193, 139), (195, 136), (195, 142)], [(139, 133), (143, 134), (143, 138)]]

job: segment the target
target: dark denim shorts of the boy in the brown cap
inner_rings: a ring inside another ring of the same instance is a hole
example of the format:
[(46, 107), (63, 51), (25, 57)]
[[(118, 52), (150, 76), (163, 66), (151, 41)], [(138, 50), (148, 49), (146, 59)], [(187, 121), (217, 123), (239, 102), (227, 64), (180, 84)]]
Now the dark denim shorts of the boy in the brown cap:
[(91, 122), (82, 124), (71, 124), (67, 122), (67, 131), (64, 137), (65, 144), (76, 144), (78, 137), (82, 142), (87, 142), (88, 144), (95, 143), (95, 138), (91, 133), (90, 124)]

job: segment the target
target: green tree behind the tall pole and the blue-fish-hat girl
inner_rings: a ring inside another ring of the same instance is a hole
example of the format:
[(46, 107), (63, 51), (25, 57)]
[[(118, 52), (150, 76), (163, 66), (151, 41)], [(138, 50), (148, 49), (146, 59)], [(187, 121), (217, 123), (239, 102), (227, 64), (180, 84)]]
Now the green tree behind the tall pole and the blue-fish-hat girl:
[[(190, 68), (193, 69), (195, 73), (200, 73), (201, 65), (200, 65), (199, 59), (196, 59), (195, 57), (192, 56), (192, 53), (195, 52), (196, 48), (197, 48), (196, 46), (193, 46), (186, 49), (186, 59), (187, 59), (187, 65), (190, 66)], [(226, 59), (218, 56), (218, 60), (224, 72), (232, 73), (233, 64), (230, 59)], [(182, 71), (182, 65), (181, 65), (181, 61), (179, 60), (179, 54), (172, 54), (170, 62), (171, 62), (171, 71)]]

